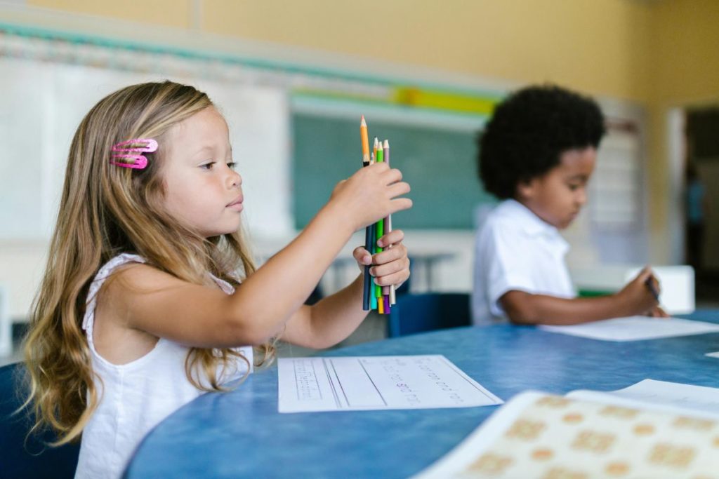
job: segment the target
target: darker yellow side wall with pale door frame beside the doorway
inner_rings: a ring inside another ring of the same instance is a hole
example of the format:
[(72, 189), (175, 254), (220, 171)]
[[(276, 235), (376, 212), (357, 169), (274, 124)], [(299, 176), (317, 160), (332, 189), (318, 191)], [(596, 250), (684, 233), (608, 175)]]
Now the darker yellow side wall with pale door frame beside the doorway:
[(654, 258), (676, 258), (672, 236), (682, 225), (682, 146), (668, 131), (683, 107), (719, 103), (719, 1), (659, 1), (651, 12), (649, 195)]

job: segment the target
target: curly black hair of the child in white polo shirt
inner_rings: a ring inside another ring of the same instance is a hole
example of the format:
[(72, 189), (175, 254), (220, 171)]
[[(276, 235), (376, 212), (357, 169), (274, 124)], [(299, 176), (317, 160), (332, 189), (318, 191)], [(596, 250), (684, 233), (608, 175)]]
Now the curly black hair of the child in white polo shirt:
[(597, 148), (604, 133), (592, 98), (556, 85), (523, 88), (497, 106), (480, 133), (480, 180), (496, 197), (514, 197), (520, 182), (544, 175), (567, 150)]

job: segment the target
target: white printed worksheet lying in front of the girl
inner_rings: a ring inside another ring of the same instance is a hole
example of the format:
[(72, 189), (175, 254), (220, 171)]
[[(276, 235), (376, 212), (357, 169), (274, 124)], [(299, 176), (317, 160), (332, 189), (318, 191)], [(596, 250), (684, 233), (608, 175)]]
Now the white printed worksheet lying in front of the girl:
[(443, 355), (280, 358), (280, 412), (493, 406)]

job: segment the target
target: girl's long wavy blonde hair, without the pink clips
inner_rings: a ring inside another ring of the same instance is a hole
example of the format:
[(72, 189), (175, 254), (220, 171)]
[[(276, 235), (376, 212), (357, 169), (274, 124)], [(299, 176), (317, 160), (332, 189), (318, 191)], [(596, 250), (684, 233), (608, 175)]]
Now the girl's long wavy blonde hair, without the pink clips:
[[(170, 81), (122, 88), (103, 98), (83, 118), (70, 145), (58, 222), (50, 243), (45, 276), (33, 304), (25, 338), (29, 396), (35, 427), (51, 427), (54, 445), (78, 439), (99, 402), (91, 352), (82, 330), (87, 294), (102, 264), (121, 253), (194, 284), (208, 272), (237, 284), (236, 271), (255, 271), (242, 235), (202, 238), (162, 208), (157, 175), (162, 135), (180, 121), (213, 106), (205, 93)], [(135, 138), (156, 139), (145, 153), (145, 169), (110, 164), (112, 145)], [(178, 234), (179, 233), (179, 234)], [(168, 238), (172, 238), (170, 241)], [(262, 345), (262, 361), (272, 361), (274, 343)], [(216, 371), (232, 359), (229, 348), (191, 348), (188, 380), (199, 389), (219, 391)], [(210, 386), (203, 386), (198, 369)]]

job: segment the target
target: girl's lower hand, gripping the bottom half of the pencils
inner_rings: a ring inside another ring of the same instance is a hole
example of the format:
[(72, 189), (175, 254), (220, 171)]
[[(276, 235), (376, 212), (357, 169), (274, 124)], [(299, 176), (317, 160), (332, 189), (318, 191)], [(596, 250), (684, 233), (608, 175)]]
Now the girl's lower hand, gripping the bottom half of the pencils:
[[(409, 258), (407, 248), (402, 244), (404, 233), (402, 230), (394, 230), (387, 233), (377, 241), (377, 246), (382, 246), (385, 251), (370, 255), (364, 246), (354, 248), (352, 255), (357, 260), (359, 269), (364, 271), (365, 265), (374, 265), (370, 268), (370, 274), (375, 278), (375, 284), (380, 286), (400, 287), (409, 277)], [(388, 245), (391, 248), (387, 248)]]

